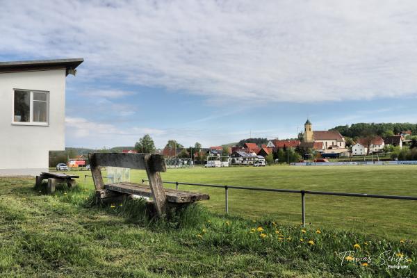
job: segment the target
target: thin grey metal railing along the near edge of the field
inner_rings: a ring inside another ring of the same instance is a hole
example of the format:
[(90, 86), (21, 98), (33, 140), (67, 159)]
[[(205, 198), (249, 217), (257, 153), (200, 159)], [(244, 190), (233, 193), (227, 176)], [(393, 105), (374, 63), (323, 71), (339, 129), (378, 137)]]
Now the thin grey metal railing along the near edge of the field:
[[(148, 180), (142, 179), (142, 183), (145, 183), (145, 181), (148, 181)], [(183, 183), (179, 181), (163, 181), (163, 183), (175, 184), (175, 188), (177, 190), (180, 184), (184, 186), (203, 186), (203, 187), (213, 187), (213, 188), (224, 188), (224, 199), (225, 199), (224, 206), (225, 206), (226, 213), (229, 213), (229, 189), (267, 191), (267, 192), (275, 192), (275, 193), (297, 193), (301, 195), (302, 227), (306, 226), (306, 208), (305, 208), (306, 194), (345, 196), (345, 197), (366, 197), (366, 198), (377, 198), (377, 199), (403, 199), (403, 200), (417, 201), (417, 197), (413, 197), (413, 196), (376, 195), (376, 194), (364, 194), (364, 193), (337, 193), (337, 192), (310, 191), (310, 190), (256, 188), (256, 187), (246, 187), (246, 186), (224, 186), (220, 184)]]

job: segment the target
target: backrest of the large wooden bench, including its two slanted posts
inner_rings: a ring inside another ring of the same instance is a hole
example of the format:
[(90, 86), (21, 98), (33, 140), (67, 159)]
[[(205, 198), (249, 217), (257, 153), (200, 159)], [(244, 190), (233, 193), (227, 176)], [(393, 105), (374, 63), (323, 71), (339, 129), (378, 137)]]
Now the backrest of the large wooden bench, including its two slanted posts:
[(146, 170), (156, 211), (160, 216), (165, 212), (167, 197), (159, 172), (166, 172), (167, 169), (161, 154), (92, 153), (88, 154), (88, 158), (96, 190), (104, 190), (101, 166)]

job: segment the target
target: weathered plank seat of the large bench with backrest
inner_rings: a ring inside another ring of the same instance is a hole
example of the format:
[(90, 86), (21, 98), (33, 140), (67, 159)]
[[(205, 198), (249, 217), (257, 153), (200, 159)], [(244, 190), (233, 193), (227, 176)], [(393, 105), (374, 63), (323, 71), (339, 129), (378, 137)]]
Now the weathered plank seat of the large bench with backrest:
[[(152, 197), (152, 190), (147, 184), (119, 182), (105, 184), (104, 188), (118, 193), (140, 195), (143, 197)], [(210, 199), (208, 194), (194, 193), (190, 191), (175, 190), (164, 188), (167, 202), (170, 203), (192, 203)]]

